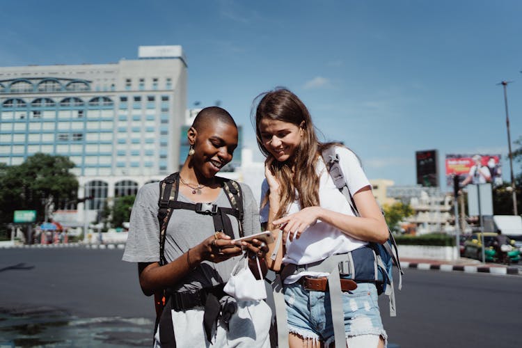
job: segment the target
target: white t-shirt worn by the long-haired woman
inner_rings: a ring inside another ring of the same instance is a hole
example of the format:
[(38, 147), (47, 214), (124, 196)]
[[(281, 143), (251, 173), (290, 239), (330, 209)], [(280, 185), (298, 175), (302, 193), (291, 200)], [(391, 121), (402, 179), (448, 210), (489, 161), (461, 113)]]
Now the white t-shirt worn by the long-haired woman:
[[(351, 194), (370, 185), (354, 152), (339, 146), (335, 147), (335, 152), (339, 155), (339, 164)], [(316, 171), (319, 174), (319, 204), (321, 207), (333, 212), (354, 216), (347, 199), (333, 184), (324, 161), (320, 157), (317, 160)], [(262, 184), (262, 198), (264, 198), (267, 190), (268, 184), (265, 179)], [(299, 212), (300, 209), (299, 201), (296, 200), (288, 207), (287, 213)], [(268, 213), (269, 205), (267, 204), (260, 212), (262, 223), (268, 221)], [(338, 228), (317, 220), (314, 226), (310, 226), (301, 233), (299, 239), (294, 239), (293, 242), (290, 242), (290, 239), (287, 237), (283, 263), (310, 264), (324, 260), (331, 255), (348, 253), (365, 244), (367, 242), (349, 237), (349, 235), (338, 230)], [(318, 274), (310, 271), (301, 272), (286, 278), (285, 283), (294, 283), (294, 281), (305, 275), (327, 276), (328, 274)]]

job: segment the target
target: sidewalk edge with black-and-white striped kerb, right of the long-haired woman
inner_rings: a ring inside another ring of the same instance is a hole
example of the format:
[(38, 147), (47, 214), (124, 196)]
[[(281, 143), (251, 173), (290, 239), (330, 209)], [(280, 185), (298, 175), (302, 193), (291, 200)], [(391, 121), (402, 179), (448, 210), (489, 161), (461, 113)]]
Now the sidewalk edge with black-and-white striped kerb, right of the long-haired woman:
[(491, 273), (522, 275), (522, 267), (507, 266), (498, 263), (482, 263), (479, 260), (459, 258), (458, 260), (429, 260), (418, 258), (400, 258), (403, 269), (432, 269), (436, 271), (463, 271), (466, 273)]

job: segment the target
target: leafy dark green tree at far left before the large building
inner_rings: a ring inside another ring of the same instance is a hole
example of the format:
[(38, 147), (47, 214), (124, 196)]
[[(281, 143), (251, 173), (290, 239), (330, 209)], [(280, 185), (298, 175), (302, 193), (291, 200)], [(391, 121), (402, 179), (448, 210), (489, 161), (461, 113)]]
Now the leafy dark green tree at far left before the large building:
[(70, 173), (74, 163), (64, 156), (37, 153), (19, 166), (0, 166), (0, 223), (13, 221), (15, 210), (36, 210), (45, 217), (45, 203), (56, 206), (77, 198), (78, 180)]

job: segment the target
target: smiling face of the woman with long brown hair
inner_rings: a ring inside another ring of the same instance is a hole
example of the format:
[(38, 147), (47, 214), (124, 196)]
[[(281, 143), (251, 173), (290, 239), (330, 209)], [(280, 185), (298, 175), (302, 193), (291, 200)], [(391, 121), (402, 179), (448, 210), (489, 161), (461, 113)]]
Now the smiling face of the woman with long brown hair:
[(263, 147), (277, 161), (287, 161), (294, 156), (301, 143), (303, 129), (290, 122), (262, 118), (259, 134)]

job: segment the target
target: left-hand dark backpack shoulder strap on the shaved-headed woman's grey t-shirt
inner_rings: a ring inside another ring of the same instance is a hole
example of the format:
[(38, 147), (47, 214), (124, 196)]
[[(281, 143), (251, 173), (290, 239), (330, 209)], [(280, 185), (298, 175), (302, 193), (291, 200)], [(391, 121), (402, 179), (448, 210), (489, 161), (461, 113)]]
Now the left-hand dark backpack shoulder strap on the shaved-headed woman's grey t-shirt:
[(179, 173), (168, 175), (159, 182), (158, 221), (159, 221), (159, 264), (166, 264), (164, 255), (165, 237), (168, 221), (171, 219), (173, 208), (168, 205), (171, 200), (177, 200), (180, 190)]

